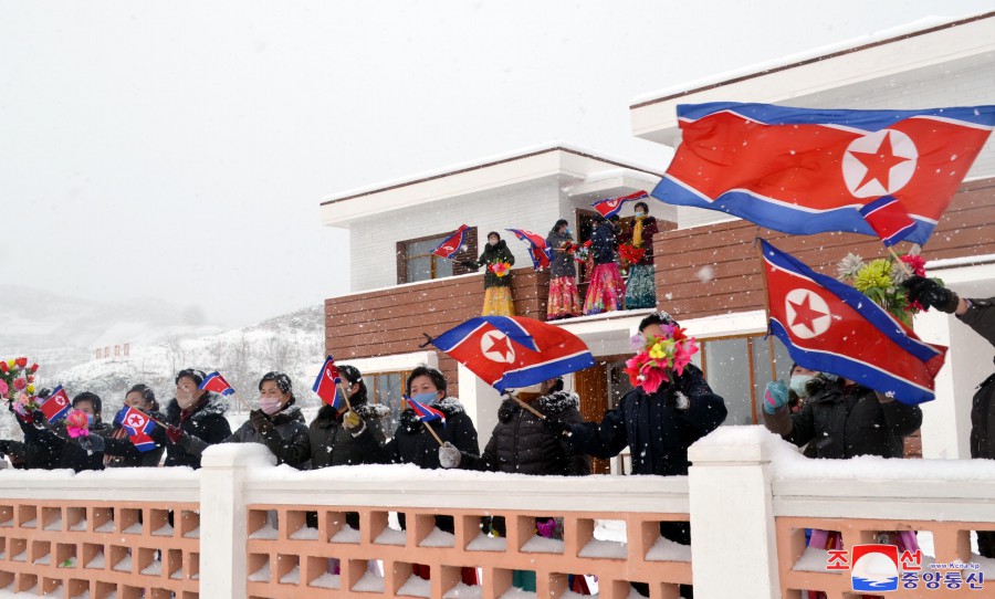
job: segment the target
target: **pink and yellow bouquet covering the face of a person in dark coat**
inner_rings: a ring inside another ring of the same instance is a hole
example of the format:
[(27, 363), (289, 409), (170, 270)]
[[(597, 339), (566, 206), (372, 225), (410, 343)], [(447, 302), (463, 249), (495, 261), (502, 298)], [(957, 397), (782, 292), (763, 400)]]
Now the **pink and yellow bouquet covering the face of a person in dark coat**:
[(684, 374), (691, 364), (691, 356), (698, 353), (698, 339), (688, 337), (677, 325), (662, 325), (663, 335), (632, 337), (632, 348), (639, 353), (626, 360), (624, 371), (629, 375), (632, 387), (642, 387), (647, 393), (654, 393), (661, 385)]

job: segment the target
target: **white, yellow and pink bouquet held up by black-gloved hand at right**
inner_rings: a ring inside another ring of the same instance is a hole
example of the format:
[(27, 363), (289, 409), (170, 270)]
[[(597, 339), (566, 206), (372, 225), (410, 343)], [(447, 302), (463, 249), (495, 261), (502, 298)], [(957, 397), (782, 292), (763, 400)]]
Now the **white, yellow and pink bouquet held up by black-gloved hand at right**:
[[(912, 274), (925, 276), (925, 260), (918, 254), (904, 254), (899, 260)], [(876, 304), (888, 311), (905, 326), (912, 326), (912, 316), (922, 312), (919, 302), (909, 302), (909, 291), (902, 282), (909, 274), (893, 258), (879, 258), (865, 262), (856, 254), (847, 254), (837, 267), (837, 279), (851, 284)]]

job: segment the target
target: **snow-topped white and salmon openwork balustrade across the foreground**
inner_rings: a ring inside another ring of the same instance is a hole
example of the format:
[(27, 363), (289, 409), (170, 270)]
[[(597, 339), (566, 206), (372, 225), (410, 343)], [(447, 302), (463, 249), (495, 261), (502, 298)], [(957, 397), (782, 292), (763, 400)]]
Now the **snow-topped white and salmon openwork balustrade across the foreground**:
[[(496, 599), (526, 570), (542, 598), (570, 597), (570, 575), (597, 576), (605, 598), (630, 597), (640, 582), (653, 599), (675, 599), (692, 581), (699, 599), (857, 597), (848, 571), (827, 570), (826, 551), (805, 547), (806, 528), (840, 530), (846, 547), (881, 532), (931, 533), (921, 537), (925, 567), (973, 561), (995, 576), (995, 561), (971, 553), (972, 530), (995, 530), (995, 462), (809, 461), (757, 427), (723, 428), (690, 455), (690, 475), (675, 477), (397, 465), (296, 472), (273, 466), (261, 445), (213, 448), (198, 472), (4, 470), (0, 589), (90, 599)], [(437, 516), (452, 518), (451, 533)], [(505, 536), (484, 534), (484, 517), (503, 518)], [(537, 517), (561, 519), (562, 533), (536, 535)], [(693, 546), (663, 539), (666, 521), (690, 522)], [(416, 565), (430, 580), (415, 576)], [(464, 569), (480, 572), (478, 585), (464, 584)], [(983, 597), (993, 587), (936, 596)]]

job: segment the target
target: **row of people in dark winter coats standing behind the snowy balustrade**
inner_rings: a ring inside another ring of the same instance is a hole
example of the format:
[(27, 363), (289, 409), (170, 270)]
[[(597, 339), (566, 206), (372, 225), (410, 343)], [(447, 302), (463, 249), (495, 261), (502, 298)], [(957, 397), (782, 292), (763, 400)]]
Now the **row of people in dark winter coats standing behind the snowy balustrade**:
[[(609, 222), (610, 221), (605, 221)], [(608, 225), (610, 227), (610, 224)], [(561, 234), (568, 231), (561, 230)], [(500, 249), (498, 250), (500, 251)], [(603, 264), (609, 264), (607, 262)], [(610, 269), (609, 269), (610, 270)], [(565, 275), (566, 276), (566, 275)], [(611, 273), (605, 275), (611, 277)], [(905, 283), (911, 301), (934, 307), (966, 323), (995, 345), (995, 308), (991, 300), (964, 300), (933, 280), (913, 277)], [(650, 339), (666, 336), (677, 323), (666, 313), (653, 313), (639, 324), (639, 333)], [(641, 386), (626, 393), (600, 422), (585, 422), (579, 398), (564, 389), (561, 378), (543, 382), (534, 390), (519, 390), (501, 404), (499, 422), (480, 451), (478, 431), (463, 412), (459, 399), (448, 393), (443, 374), (428, 366), (415, 368), (406, 380), (407, 397), (444, 414), (423, 421), (406, 404), (392, 434), (384, 430), (389, 410), (373, 404), (363, 375), (343, 365), (345, 382), (337, 393), (346, 393), (348, 406), (337, 410), (325, 404), (311, 423), (296, 406), (293, 383), (282, 372), (268, 372), (259, 381), (259, 407), (234, 432), (224, 417), (227, 400), (201, 389), (206, 375), (188, 368), (176, 375), (171, 399), (160, 409), (155, 392), (135, 385), (126, 404), (142, 410), (160, 425), (150, 437), (151, 451), (139, 452), (119, 423), (103, 420), (102, 400), (83, 391), (72, 406), (87, 416), (90, 434), (71, 437), (61, 423), (49, 422), (39, 410), (15, 418), (23, 441), (0, 441), (0, 453), (17, 467), (72, 469), (76, 472), (104, 467), (200, 466), (203, 451), (217, 443), (260, 443), (279, 463), (296, 469), (322, 469), (355, 464), (416, 464), (421, 469), (464, 469), (531, 475), (579, 476), (590, 473), (589, 458), (607, 459), (628, 448), (632, 474), (673, 476), (689, 471), (688, 449), (723, 423), (726, 406), (705, 381), (702, 371), (688, 365), (671, 372), (653, 392)], [(922, 423), (918, 406), (896, 401), (831, 372), (816, 372), (793, 365), (789, 382), (772, 381), (764, 397), (763, 422), (772, 432), (803, 448), (814, 459), (849, 459), (858, 455), (904, 456), (903, 438)], [(46, 391), (41, 391), (44, 397)], [(995, 375), (985, 380), (972, 407), (972, 458), (995, 459)], [(345, 398), (342, 398), (345, 399)], [(165, 460), (163, 459), (165, 454)], [(358, 517), (348, 516), (355, 526)], [(406, 523), (401, 518), (401, 527)], [(452, 532), (450, 516), (438, 516), (437, 526)], [(482, 523), (485, 533), (503, 535), (504, 523), (491, 518)], [(536, 534), (562, 534), (554, 517), (536, 518)], [(660, 534), (679, 544), (691, 542), (688, 523), (660, 524)], [(883, 533), (888, 540), (915, 549), (914, 534)], [(995, 557), (995, 534), (980, 533), (978, 547), (985, 557)], [(838, 533), (810, 532), (810, 543), (820, 548), (840, 546)], [(428, 568), (416, 565), (428, 577)], [(463, 579), (473, 582), (468, 568)], [(531, 576), (530, 576), (531, 575)], [(577, 578), (582, 584), (583, 577)], [(534, 574), (516, 572), (516, 585), (535, 586)], [(638, 588), (645, 591), (646, 589)], [(682, 589), (692, 597), (692, 589)]]

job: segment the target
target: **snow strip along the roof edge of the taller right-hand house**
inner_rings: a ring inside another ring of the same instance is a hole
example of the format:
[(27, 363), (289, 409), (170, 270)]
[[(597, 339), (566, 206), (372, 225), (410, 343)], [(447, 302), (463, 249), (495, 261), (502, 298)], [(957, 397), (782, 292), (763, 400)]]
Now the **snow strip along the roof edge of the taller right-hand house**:
[(827, 59), (832, 54), (837, 54), (840, 52), (861, 50), (863, 46), (888, 43), (890, 41), (908, 36), (910, 34), (929, 33), (934, 29), (942, 28), (943, 25), (954, 27), (964, 21), (975, 20), (977, 18), (986, 18), (989, 15), (995, 17), (995, 13), (978, 13), (968, 17), (924, 17), (903, 25), (882, 29), (881, 31), (874, 31), (866, 35), (859, 35), (857, 38), (850, 38), (849, 40), (844, 40), (832, 44), (806, 50), (804, 52), (798, 52), (797, 54), (778, 56), (769, 61), (754, 63), (733, 71), (726, 71), (718, 75), (702, 77), (699, 80), (684, 82), (675, 86), (658, 90), (656, 92), (640, 94), (632, 98), (631, 108), (638, 108), (645, 104), (652, 104), (663, 98), (679, 96), (690, 92), (700, 91), (705, 87), (718, 87), (720, 85), (733, 83), (736, 80), (748, 77), (751, 75), (778, 71), (783, 70), (784, 67), (799, 65), (799, 63)]

